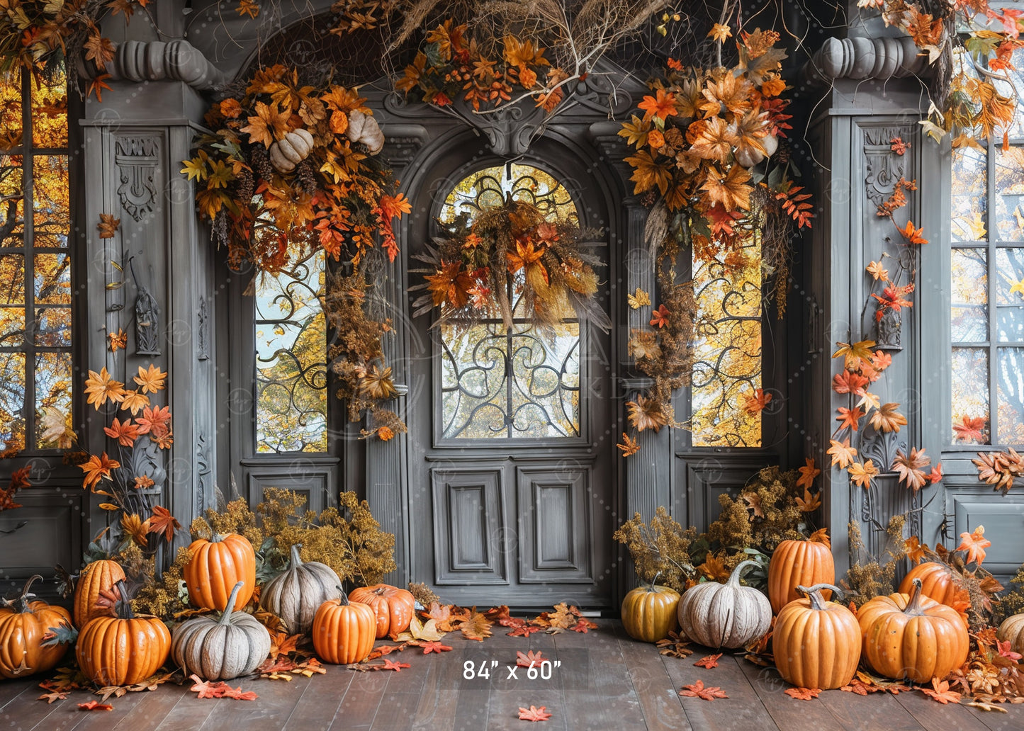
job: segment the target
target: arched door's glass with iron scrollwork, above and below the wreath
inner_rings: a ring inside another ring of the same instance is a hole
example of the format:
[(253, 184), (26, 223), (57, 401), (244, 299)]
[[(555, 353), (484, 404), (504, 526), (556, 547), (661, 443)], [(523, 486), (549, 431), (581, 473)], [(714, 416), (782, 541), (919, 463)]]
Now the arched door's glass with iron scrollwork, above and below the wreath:
[[(447, 193), (437, 220), (472, 220), (509, 196), (540, 208), (549, 220), (577, 220), (566, 187), (544, 170), (521, 164), (478, 169)], [(437, 435), (449, 439), (579, 438), (581, 434), (581, 322), (563, 320), (539, 332), (518, 297), (522, 274), (508, 276), (513, 324), (485, 319), (472, 327), (440, 327)]]

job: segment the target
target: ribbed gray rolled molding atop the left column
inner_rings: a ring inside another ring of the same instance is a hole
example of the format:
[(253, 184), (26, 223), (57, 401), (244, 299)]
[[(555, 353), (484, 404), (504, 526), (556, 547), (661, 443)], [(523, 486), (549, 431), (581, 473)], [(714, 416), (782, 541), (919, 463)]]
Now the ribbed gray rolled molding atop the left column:
[(106, 69), (114, 79), (183, 81), (199, 91), (222, 89), (230, 79), (188, 41), (125, 41)]

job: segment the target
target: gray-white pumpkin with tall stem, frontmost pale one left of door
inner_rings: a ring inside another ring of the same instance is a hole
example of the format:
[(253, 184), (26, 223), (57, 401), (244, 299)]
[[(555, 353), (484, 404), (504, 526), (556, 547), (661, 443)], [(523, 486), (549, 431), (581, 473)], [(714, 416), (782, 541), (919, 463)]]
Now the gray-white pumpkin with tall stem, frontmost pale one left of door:
[[(234, 606), (244, 582), (231, 590), (227, 606)], [(270, 633), (252, 614), (223, 611), (181, 622), (171, 633), (171, 657), (206, 680), (230, 680), (249, 675), (270, 653)]]

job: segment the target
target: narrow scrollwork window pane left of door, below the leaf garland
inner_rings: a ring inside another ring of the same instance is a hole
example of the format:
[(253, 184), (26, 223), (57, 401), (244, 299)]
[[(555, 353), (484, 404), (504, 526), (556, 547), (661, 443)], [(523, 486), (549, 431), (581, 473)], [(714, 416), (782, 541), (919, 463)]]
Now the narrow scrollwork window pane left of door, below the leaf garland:
[(327, 451), (324, 252), (256, 286), (256, 450)]

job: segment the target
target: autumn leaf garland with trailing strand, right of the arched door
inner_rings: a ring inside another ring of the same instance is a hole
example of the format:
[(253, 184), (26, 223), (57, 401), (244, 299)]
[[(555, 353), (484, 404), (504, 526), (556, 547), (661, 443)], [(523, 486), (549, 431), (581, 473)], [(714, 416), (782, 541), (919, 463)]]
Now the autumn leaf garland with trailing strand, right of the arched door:
[[(721, 46), (732, 33), (716, 24), (709, 35)], [(790, 101), (780, 96), (787, 87), (778, 40), (774, 31), (741, 34), (731, 69), (686, 68), (670, 58), (666, 74), (649, 84), (653, 95), (639, 104), (643, 116), (633, 115), (618, 132), (636, 150), (626, 158), (634, 192), (653, 204), (646, 238), (656, 252), (662, 300), (653, 307), (649, 293), (630, 296), (632, 308), (651, 307), (651, 330), (634, 331), (629, 343), (638, 370), (654, 380), (628, 402), (637, 431), (682, 426), (672, 418), (672, 393), (688, 383), (698, 324), (692, 283), (677, 281), (680, 253), (741, 270), (749, 264), (742, 248), (759, 240), (779, 314), (785, 310), (790, 240), (813, 214), (780, 142)], [(755, 397), (763, 408), (770, 394)], [(630, 434), (618, 446), (626, 456), (639, 448)]]

